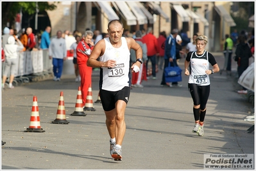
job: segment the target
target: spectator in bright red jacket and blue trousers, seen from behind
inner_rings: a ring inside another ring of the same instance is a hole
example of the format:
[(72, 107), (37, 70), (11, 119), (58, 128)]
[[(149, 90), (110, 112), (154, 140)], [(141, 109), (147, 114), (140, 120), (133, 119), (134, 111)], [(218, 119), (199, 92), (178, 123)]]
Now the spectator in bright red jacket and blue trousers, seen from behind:
[[(157, 79), (157, 73), (156, 73), (156, 65), (157, 65), (157, 55), (159, 53), (158, 48), (158, 42), (157, 38), (153, 35), (152, 27), (148, 27), (148, 34), (142, 37), (142, 40), (147, 45), (148, 48), (148, 61), (150, 59), (152, 64), (152, 78), (153, 80)], [(146, 62), (146, 70), (148, 71), (148, 61)], [(148, 78), (148, 72), (147, 72), (147, 78)]]

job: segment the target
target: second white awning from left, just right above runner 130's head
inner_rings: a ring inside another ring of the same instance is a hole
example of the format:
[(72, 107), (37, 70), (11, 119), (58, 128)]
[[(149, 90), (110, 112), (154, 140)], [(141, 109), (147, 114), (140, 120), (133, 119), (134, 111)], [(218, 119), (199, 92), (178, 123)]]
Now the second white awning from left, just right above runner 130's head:
[[(126, 24), (128, 26), (137, 25), (137, 18), (133, 15), (129, 6), (124, 1), (115, 1), (112, 4), (116, 4), (121, 13), (123, 14)], [(118, 10), (118, 9), (117, 9)]]

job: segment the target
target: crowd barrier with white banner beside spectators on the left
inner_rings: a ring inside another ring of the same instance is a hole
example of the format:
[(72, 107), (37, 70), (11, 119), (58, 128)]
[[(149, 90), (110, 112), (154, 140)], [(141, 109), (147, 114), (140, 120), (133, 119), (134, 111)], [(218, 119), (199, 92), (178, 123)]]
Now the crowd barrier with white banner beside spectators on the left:
[[(18, 52), (17, 60), (17, 73), (13, 81), (15, 84), (44, 79), (53, 72), (52, 59), (49, 59), (48, 50)], [(4, 63), (2, 63), (3, 70)]]

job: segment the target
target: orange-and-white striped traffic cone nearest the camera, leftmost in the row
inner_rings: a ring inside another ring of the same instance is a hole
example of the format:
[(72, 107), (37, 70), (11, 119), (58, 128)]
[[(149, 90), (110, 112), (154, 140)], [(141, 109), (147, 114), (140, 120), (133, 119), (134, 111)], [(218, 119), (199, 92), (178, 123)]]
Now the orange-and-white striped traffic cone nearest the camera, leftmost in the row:
[(27, 128), (27, 130), (25, 130), (24, 132), (39, 132), (39, 133), (44, 132), (44, 130), (42, 130), (40, 126), (37, 96), (33, 97), (33, 106), (31, 108), (31, 117), (30, 117), (30, 127)]

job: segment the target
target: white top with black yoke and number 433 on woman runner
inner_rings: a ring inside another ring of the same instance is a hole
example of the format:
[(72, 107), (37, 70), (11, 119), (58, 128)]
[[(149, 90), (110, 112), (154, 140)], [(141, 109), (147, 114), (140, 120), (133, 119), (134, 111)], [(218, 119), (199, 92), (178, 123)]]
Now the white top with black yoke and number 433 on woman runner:
[(205, 51), (201, 56), (196, 54), (196, 51), (191, 54), (191, 75), (189, 75), (189, 83), (197, 85), (209, 85), (210, 77), (205, 73), (209, 70), (208, 52)]

